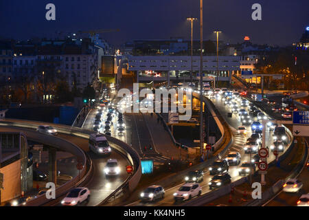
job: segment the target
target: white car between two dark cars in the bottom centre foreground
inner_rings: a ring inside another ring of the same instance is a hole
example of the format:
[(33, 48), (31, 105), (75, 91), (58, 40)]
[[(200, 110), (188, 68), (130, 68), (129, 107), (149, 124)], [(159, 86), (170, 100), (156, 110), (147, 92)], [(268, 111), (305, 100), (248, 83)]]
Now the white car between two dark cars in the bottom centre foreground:
[(193, 197), (200, 196), (202, 194), (202, 188), (200, 184), (196, 183), (187, 183), (181, 186), (174, 195), (175, 201), (190, 200)]

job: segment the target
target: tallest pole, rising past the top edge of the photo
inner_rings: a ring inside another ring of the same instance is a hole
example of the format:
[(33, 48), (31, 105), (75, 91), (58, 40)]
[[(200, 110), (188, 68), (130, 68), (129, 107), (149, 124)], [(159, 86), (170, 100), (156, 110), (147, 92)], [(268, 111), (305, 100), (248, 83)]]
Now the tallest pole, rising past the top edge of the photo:
[(203, 0), (200, 0), (200, 28), (201, 28), (201, 64), (200, 64), (200, 146), (201, 155), (204, 148), (203, 135)]

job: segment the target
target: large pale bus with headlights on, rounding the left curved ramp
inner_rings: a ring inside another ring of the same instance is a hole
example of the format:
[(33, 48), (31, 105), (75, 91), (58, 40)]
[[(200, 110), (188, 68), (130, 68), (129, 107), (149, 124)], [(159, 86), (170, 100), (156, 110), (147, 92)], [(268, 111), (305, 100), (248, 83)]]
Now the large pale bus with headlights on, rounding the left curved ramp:
[(89, 150), (98, 155), (111, 155), (111, 146), (101, 133), (92, 133), (90, 135)]

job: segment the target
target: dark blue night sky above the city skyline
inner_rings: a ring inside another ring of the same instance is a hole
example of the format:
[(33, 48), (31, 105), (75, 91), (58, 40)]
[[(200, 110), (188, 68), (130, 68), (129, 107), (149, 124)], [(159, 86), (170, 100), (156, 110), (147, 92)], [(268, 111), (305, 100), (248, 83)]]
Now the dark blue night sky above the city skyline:
[[(204, 39), (290, 45), (298, 42), (309, 25), (308, 0), (204, 0)], [(56, 5), (56, 21), (45, 19), (45, 5)], [(262, 21), (251, 19), (251, 5), (262, 5)], [(133, 39), (190, 39), (187, 17), (199, 18), (199, 0), (0, 0), (0, 36), (29, 39), (54, 38), (55, 32), (115, 29), (102, 34), (114, 45)], [(198, 22), (194, 39), (199, 39)]]

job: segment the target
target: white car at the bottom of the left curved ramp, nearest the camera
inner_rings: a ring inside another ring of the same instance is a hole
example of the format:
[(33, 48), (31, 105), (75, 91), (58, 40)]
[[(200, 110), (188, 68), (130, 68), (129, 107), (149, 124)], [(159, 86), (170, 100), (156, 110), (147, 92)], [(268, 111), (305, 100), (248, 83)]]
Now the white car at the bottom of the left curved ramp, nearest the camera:
[(62, 199), (62, 206), (79, 206), (83, 201), (89, 201), (90, 190), (86, 187), (73, 188), (67, 196)]

